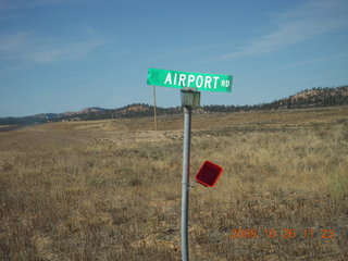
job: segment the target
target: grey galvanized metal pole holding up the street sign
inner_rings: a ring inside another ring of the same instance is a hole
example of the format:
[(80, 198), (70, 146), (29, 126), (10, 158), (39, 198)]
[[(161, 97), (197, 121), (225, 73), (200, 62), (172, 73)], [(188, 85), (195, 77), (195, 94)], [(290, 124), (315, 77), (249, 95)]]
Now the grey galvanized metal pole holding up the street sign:
[(184, 153), (182, 188), (182, 260), (188, 261), (188, 192), (189, 192), (189, 152), (192, 108), (184, 105)]

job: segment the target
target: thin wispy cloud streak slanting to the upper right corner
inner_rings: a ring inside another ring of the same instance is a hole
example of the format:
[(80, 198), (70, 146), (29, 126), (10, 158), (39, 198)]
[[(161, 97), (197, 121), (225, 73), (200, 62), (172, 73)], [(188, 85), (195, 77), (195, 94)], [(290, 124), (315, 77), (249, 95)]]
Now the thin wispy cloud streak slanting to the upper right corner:
[(306, 5), (276, 15), (276, 29), (260, 36), (238, 51), (222, 55), (216, 60), (229, 60), (244, 55), (268, 54), (348, 27), (348, 4), (345, 1), (310, 1)]

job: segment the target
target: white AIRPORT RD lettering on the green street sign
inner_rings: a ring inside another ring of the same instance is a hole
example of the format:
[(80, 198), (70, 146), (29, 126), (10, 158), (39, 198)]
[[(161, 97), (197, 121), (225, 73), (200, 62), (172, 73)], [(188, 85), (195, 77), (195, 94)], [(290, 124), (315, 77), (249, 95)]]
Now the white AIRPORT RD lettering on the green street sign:
[[(173, 79), (174, 77), (174, 79)], [(202, 75), (194, 75), (194, 74), (181, 74), (181, 73), (167, 73), (164, 84), (165, 85), (178, 85), (182, 87), (197, 87), (197, 88), (201, 88), (203, 87), (204, 89), (211, 89), (217, 88), (217, 80), (219, 80), (219, 76), (202, 76)], [(229, 86), (229, 80), (221, 80), (221, 86), (223, 87), (228, 87)]]

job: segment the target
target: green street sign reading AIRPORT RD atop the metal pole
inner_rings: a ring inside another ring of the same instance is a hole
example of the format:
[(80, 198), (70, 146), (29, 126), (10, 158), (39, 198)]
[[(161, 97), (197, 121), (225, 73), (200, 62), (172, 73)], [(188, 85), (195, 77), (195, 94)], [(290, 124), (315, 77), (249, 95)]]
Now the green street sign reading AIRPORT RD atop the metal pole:
[(149, 69), (148, 71), (148, 85), (154, 86), (231, 92), (232, 84), (232, 75), (187, 73), (161, 69)]

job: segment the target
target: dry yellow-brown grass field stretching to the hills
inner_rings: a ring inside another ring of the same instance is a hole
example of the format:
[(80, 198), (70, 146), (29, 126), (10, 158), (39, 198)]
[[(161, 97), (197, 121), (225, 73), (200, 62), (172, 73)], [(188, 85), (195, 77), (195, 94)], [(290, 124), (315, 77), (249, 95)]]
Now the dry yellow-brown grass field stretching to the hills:
[[(183, 116), (152, 128), (0, 132), (0, 260), (181, 260)], [(190, 190), (190, 260), (347, 260), (347, 107), (194, 114), (191, 179), (204, 160), (224, 173)]]

